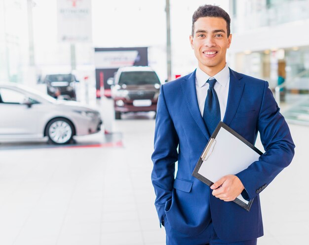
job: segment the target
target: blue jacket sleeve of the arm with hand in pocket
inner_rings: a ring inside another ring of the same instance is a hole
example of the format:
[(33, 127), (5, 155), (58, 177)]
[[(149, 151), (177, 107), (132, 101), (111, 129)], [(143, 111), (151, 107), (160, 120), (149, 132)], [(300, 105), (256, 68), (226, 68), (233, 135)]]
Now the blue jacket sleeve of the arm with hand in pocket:
[(156, 195), (154, 204), (160, 223), (163, 221), (165, 215), (165, 203), (172, 198), (175, 162), (178, 160), (177, 147), (179, 143), (174, 123), (167, 109), (163, 88), (164, 85), (160, 88), (157, 103), (154, 153), (152, 155), (154, 163), (152, 182)]

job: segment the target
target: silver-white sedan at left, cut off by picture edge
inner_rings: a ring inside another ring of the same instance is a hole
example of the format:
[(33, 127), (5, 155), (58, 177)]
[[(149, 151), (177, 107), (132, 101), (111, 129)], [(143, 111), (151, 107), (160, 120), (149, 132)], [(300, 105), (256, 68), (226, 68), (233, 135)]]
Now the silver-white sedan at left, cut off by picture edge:
[(0, 141), (48, 137), (55, 144), (101, 129), (98, 110), (17, 84), (0, 84)]

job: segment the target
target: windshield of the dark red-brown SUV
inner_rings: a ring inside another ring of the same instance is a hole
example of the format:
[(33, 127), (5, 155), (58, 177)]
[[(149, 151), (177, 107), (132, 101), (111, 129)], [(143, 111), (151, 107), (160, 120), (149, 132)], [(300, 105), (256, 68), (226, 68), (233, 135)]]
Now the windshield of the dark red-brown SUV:
[(123, 71), (119, 77), (119, 85), (160, 84), (154, 71)]

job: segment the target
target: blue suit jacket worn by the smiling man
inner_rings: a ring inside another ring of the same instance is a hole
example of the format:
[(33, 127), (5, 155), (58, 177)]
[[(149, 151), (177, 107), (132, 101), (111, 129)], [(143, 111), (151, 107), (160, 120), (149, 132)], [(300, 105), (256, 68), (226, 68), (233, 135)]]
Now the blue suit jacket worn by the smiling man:
[(167, 219), (184, 234), (197, 235), (212, 220), (222, 240), (255, 239), (263, 236), (258, 193), (289, 165), (295, 146), (268, 82), (233, 70), (223, 122), (252, 144), (260, 132), (266, 152), (237, 174), (245, 194), (254, 198), (251, 210), (217, 199), (206, 184), (192, 176), (210, 138), (197, 104), (195, 71), (161, 86), (152, 155), (155, 207), (160, 222)]

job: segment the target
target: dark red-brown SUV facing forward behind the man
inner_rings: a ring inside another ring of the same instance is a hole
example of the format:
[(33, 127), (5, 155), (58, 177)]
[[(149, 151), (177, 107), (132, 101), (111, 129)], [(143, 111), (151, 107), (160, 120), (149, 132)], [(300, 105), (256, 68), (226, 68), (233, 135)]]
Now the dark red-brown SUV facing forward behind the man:
[(150, 67), (119, 68), (112, 86), (115, 118), (125, 112), (156, 111), (160, 85)]

